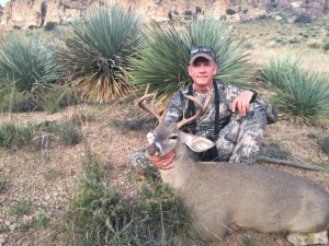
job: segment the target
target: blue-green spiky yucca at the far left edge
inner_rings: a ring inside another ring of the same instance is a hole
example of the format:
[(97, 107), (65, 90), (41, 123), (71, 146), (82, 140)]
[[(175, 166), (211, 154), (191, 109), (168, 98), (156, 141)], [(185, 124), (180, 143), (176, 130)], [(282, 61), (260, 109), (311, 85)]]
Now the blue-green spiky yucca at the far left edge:
[(19, 91), (58, 79), (54, 51), (39, 35), (9, 34), (0, 40), (0, 85), (14, 83)]

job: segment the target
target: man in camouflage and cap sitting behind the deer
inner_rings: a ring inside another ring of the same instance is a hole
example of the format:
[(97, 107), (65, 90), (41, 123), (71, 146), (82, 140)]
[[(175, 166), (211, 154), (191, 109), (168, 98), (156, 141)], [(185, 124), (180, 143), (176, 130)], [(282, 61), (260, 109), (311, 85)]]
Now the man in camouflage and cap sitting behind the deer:
[[(188, 117), (195, 114), (196, 106), (183, 94), (193, 95), (203, 103), (207, 94), (212, 93), (204, 114), (182, 130), (216, 141), (216, 147), (201, 154), (191, 152), (191, 155), (200, 161), (254, 163), (266, 124), (277, 120), (272, 105), (261, 99), (254, 91), (242, 91), (222, 81), (214, 81), (217, 65), (211, 47), (192, 47), (188, 69), (193, 83), (169, 99), (164, 121), (180, 121), (184, 112)], [(238, 115), (234, 118), (236, 110)], [(140, 154), (139, 159), (137, 155), (133, 157), (135, 165), (143, 163)], [(161, 163), (159, 157), (148, 159), (154, 164)]]

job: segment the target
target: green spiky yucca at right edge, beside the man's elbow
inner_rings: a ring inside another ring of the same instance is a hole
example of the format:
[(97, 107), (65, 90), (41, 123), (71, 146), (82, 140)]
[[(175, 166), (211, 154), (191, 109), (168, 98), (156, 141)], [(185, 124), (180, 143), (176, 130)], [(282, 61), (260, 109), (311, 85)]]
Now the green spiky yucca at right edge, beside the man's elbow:
[(328, 74), (309, 73), (302, 69), (290, 72), (284, 86), (275, 86), (270, 99), (279, 112), (307, 125), (329, 119)]

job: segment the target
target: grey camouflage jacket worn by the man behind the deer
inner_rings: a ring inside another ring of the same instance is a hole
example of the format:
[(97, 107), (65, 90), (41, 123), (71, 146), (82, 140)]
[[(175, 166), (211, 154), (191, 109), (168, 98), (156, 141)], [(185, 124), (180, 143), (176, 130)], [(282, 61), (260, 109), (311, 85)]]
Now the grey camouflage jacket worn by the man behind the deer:
[[(236, 87), (234, 85), (224, 83), (222, 81), (216, 81), (219, 94), (219, 120), (218, 120), (218, 130), (220, 131), (231, 119), (232, 112), (230, 110), (230, 105), (235, 97), (237, 97), (242, 90)], [(183, 89), (181, 92), (183, 94), (188, 94), (189, 86)], [(178, 122), (182, 119), (183, 110), (188, 108), (188, 102), (184, 96), (182, 96), (181, 92), (175, 92), (172, 97), (169, 99), (167, 105), (167, 114), (164, 117), (164, 121), (167, 122)], [(205, 109), (204, 114), (196, 119), (195, 126), (195, 134), (202, 137), (213, 137), (214, 136), (214, 127), (215, 127), (215, 90), (212, 87), (211, 90), (212, 98), (211, 102)], [(197, 93), (193, 90), (193, 96), (195, 96), (202, 104), (204, 103), (207, 94)], [(273, 124), (277, 120), (276, 113), (273, 106), (262, 99), (259, 95), (252, 103), (261, 104), (266, 113), (268, 124)], [(195, 105), (195, 110), (197, 110), (197, 106)], [(191, 125), (185, 128), (191, 127)]]

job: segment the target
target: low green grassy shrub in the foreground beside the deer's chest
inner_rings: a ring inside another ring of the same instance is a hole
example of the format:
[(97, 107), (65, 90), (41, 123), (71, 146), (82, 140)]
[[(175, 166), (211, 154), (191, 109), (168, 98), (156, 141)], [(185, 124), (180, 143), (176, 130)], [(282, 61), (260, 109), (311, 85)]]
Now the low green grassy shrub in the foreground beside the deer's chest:
[(138, 198), (123, 198), (104, 175), (94, 154), (83, 161), (64, 225), (73, 245), (182, 245), (190, 216), (172, 190), (155, 179), (140, 186)]

